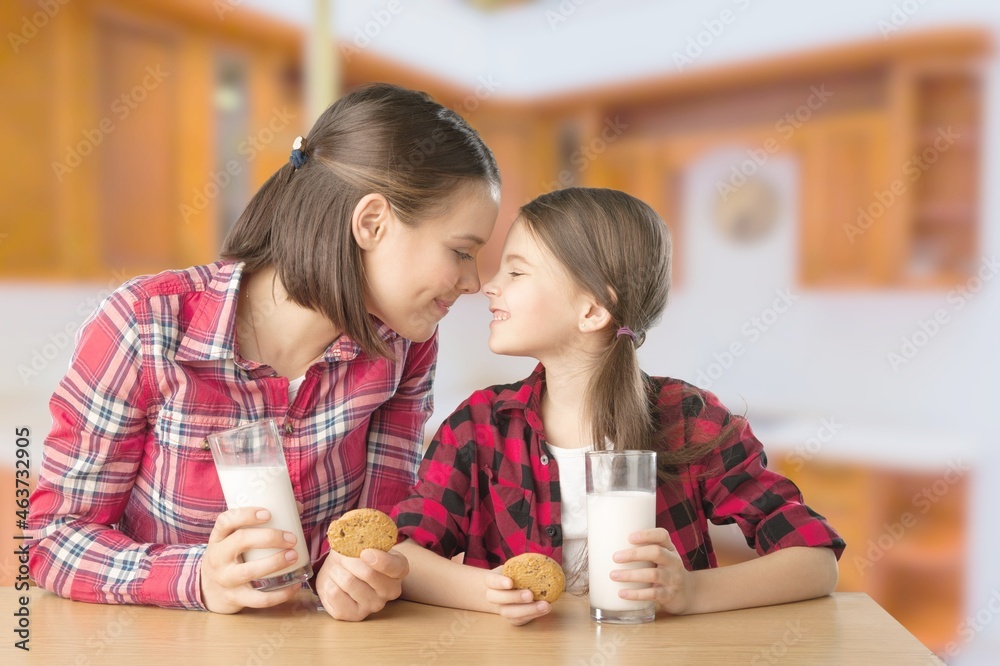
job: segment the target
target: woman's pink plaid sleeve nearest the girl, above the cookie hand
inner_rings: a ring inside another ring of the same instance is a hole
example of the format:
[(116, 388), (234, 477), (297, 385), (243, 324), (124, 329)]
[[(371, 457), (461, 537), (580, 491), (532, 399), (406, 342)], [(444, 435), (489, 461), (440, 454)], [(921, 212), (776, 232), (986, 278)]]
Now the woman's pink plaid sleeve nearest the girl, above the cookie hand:
[(372, 413), (360, 506), (389, 513), (416, 481), (424, 425), (434, 411), (437, 350), (437, 333), (410, 345), (396, 393)]

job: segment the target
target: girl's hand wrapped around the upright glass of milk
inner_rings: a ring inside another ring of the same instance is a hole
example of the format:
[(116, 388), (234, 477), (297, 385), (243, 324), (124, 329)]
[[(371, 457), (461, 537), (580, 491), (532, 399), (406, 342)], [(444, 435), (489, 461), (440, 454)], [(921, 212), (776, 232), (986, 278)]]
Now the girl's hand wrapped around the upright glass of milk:
[(684, 568), (670, 535), (662, 527), (639, 530), (629, 535), (635, 548), (619, 550), (615, 562), (652, 562), (653, 568), (616, 569), (611, 579), (627, 583), (650, 583), (650, 587), (621, 590), (618, 596), (635, 601), (655, 601), (657, 611), (682, 615), (691, 605), (694, 580)]

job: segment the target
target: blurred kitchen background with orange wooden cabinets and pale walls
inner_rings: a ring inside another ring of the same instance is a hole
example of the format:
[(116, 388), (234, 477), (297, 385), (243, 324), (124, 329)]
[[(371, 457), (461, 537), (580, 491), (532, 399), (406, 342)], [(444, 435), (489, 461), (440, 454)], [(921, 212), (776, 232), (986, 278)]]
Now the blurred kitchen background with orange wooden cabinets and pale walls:
[[(213, 261), (319, 110), (392, 81), (496, 154), (484, 277), (542, 192), (653, 205), (675, 286), (646, 371), (747, 414), (847, 538), (841, 590), (949, 663), (996, 663), (997, 3), (8, 0), (0, 21), (5, 535), (15, 428), (34, 478), (83, 319), (128, 277)], [(488, 321), (480, 294), (442, 323), (430, 430), (530, 371)], [(717, 549), (752, 556), (727, 529)]]

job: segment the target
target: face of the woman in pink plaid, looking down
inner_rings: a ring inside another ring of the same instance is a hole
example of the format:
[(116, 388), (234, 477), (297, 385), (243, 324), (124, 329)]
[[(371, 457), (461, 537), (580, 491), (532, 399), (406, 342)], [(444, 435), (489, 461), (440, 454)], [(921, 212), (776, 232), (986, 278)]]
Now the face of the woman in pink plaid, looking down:
[(408, 340), (430, 338), (459, 296), (479, 291), (476, 255), (499, 212), (477, 189), (416, 227), (389, 214), (383, 235), (363, 252), (368, 311)]

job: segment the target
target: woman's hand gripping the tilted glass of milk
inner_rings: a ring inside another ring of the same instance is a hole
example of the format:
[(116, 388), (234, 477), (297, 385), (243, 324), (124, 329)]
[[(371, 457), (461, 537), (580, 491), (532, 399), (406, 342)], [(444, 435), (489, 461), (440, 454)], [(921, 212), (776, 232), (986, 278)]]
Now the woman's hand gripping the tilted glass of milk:
[[(299, 587), (291, 585), (273, 592), (262, 592), (250, 581), (267, 578), (286, 569), (295, 560), (295, 536), (270, 528), (240, 529), (263, 525), (271, 519), (266, 509), (247, 507), (219, 514), (208, 537), (208, 547), (201, 558), (201, 599), (215, 613), (236, 613), (244, 608), (267, 608), (295, 596)], [(279, 548), (280, 552), (252, 562), (240, 555), (251, 548)]]

